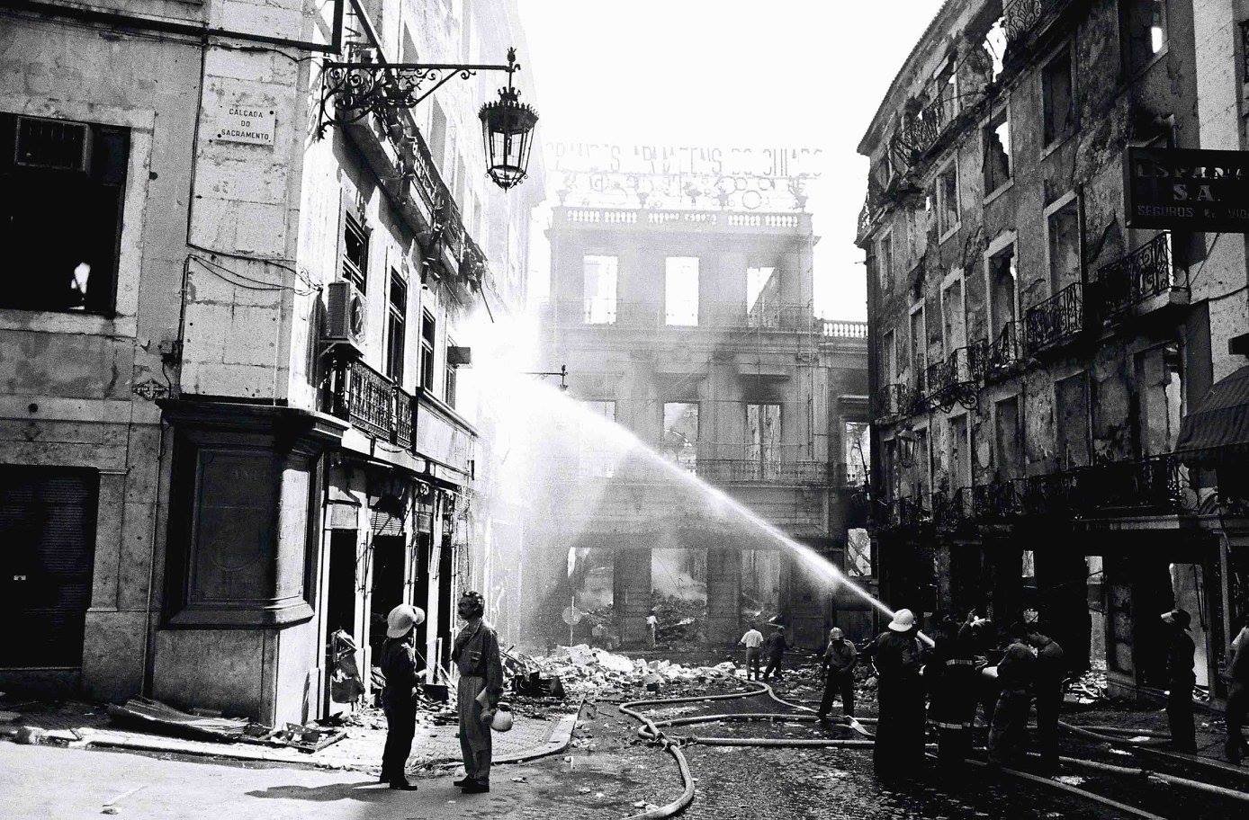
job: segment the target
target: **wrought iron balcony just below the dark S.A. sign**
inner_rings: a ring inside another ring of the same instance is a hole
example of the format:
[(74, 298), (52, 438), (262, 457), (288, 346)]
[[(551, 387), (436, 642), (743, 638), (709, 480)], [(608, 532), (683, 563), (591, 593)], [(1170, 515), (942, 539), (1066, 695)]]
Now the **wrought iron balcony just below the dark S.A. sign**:
[(1188, 268), (1177, 268), (1170, 233), (1163, 232), (1132, 253), (1098, 268), (1099, 315), (1108, 320), (1144, 316), (1189, 301)]

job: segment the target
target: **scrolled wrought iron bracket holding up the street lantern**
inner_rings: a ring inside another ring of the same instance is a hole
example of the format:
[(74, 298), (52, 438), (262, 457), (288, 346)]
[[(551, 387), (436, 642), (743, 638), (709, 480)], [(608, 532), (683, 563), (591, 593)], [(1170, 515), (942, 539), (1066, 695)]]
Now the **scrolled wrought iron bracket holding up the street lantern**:
[(511, 86), (520, 69), (515, 49), (508, 49), (507, 65), (327, 61), (321, 69), (317, 139), (331, 125), (360, 122), (370, 114), (392, 120), (400, 109), (415, 109), (453, 77), (467, 80), (478, 71), (506, 71)]

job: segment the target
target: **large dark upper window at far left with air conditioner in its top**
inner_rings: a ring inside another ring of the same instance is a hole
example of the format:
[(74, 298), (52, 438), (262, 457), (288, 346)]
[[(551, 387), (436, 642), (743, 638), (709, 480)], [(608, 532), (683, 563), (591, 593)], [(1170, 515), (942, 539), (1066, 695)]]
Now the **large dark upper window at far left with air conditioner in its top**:
[(20, 271), (0, 307), (112, 312), (129, 159), (126, 129), (0, 114), (0, 246)]

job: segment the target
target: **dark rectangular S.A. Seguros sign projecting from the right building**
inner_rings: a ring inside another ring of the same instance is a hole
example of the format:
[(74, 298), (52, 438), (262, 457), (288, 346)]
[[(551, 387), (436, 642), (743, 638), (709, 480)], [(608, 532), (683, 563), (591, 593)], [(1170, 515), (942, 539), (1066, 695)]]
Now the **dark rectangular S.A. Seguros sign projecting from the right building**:
[(1129, 147), (1123, 165), (1128, 227), (1249, 233), (1249, 151)]

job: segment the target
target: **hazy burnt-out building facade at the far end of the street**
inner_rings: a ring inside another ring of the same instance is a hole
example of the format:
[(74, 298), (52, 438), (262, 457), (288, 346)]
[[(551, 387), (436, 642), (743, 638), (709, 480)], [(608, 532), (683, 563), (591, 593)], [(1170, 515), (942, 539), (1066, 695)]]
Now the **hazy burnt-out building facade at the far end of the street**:
[[(567, 366), (570, 396), (843, 565), (864, 525), (851, 482), (867, 463), (866, 327), (813, 313), (811, 215), (560, 206), (548, 236), (542, 349)], [(572, 469), (595, 500), (570, 504), (550, 554), (598, 555), (626, 643), (644, 638), (652, 592), (682, 584), (706, 602), (711, 644), (737, 642), (743, 608), (779, 612), (804, 645), (834, 618), (866, 635), (862, 602), (829, 598), (753, 528), (706, 525), (663, 471)]]

